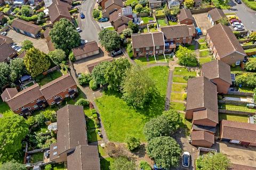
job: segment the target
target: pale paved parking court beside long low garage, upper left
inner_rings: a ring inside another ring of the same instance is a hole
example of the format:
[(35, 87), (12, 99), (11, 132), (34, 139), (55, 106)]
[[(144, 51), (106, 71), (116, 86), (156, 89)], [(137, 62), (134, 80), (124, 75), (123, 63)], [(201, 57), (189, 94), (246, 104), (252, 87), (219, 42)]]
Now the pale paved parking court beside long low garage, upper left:
[(45, 39), (31, 38), (31, 37), (25, 36), (21, 33), (18, 33), (12, 29), (8, 31), (7, 37), (12, 38), (12, 40), (19, 45), (21, 45), (22, 41), (24, 41), (26, 39), (30, 40), (33, 43), (35, 48), (38, 48), (39, 50), (41, 50), (42, 52), (44, 52), (46, 54), (49, 53), (49, 49), (48, 49)]

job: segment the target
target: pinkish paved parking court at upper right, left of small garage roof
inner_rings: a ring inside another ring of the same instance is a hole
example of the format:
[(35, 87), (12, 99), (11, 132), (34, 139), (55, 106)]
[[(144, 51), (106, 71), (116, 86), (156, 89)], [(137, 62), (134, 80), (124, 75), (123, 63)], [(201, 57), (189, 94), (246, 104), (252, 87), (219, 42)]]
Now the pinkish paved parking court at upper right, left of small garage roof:
[(203, 35), (206, 35), (207, 29), (213, 27), (210, 20), (207, 17), (208, 13), (194, 14), (193, 17), (196, 21), (197, 27), (200, 27)]

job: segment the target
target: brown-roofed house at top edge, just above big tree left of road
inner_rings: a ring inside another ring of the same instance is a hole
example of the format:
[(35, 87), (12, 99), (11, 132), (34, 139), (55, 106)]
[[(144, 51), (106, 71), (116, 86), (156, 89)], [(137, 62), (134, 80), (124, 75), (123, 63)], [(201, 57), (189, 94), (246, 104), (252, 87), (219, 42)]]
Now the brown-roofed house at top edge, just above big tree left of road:
[(53, 0), (52, 4), (48, 8), (51, 22), (55, 23), (60, 21), (61, 18), (66, 18), (67, 20), (71, 21), (72, 18), (69, 13), (70, 9), (70, 4), (60, 0)]

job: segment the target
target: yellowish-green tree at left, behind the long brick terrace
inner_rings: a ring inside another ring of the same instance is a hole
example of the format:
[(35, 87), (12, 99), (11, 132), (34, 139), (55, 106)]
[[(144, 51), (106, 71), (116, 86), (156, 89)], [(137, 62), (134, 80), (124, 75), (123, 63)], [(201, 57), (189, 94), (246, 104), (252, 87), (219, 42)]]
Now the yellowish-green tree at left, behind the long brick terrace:
[(51, 63), (49, 58), (37, 48), (30, 48), (27, 50), (24, 58), (24, 63), (28, 73), (32, 77), (36, 77), (42, 72), (49, 69)]

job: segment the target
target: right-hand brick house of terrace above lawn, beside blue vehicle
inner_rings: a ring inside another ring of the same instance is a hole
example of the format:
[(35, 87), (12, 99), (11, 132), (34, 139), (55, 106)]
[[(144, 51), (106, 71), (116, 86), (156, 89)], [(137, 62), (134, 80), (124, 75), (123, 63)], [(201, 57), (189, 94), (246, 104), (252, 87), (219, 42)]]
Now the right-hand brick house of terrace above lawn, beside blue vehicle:
[(172, 25), (161, 27), (164, 33), (165, 53), (175, 52), (179, 45), (192, 44), (196, 36), (194, 25)]

